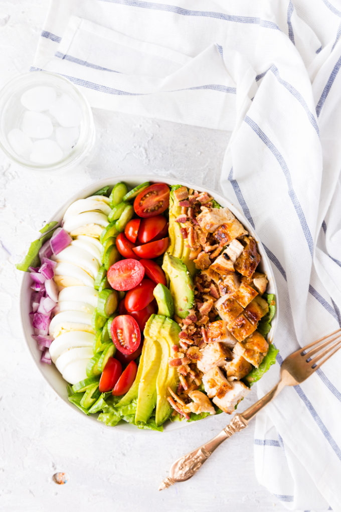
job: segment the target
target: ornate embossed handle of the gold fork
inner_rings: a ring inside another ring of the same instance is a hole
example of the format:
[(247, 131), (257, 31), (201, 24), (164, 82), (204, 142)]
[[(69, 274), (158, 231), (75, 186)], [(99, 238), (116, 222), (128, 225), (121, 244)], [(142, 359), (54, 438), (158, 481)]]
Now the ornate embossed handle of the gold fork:
[(248, 422), (242, 415), (236, 414), (230, 423), (225, 426), (217, 436), (196, 450), (193, 450), (193, 452), (180, 457), (176, 462), (174, 462), (170, 470), (170, 476), (162, 482), (158, 490), (166, 489), (175, 482), (183, 482), (184, 480), (191, 478), (210, 457), (219, 444), (228, 437), (231, 437), (235, 432), (245, 429), (247, 423)]

